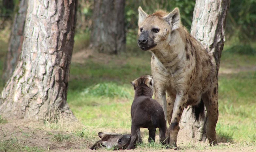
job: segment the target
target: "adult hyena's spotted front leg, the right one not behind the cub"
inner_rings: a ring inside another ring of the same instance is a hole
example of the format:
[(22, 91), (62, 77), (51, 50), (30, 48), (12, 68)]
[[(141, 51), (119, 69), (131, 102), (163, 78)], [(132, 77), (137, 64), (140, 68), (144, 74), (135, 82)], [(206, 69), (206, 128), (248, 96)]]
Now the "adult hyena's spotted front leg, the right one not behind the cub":
[(188, 99), (187, 93), (185, 93), (184, 95), (177, 94), (176, 99), (174, 101), (172, 118), (169, 126), (169, 135), (170, 135), (169, 144), (170, 146), (173, 146), (173, 147), (177, 146), (177, 135), (179, 132), (179, 123), (180, 123), (181, 115), (184, 110), (184, 105), (187, 99)]

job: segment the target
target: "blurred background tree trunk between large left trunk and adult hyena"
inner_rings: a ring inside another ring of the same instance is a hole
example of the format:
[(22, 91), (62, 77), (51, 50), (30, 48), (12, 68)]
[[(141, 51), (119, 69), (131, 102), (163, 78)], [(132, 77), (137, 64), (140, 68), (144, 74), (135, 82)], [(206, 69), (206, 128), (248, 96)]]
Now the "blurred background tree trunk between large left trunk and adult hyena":
[(107, 54), (125, 51), (124, 0), (94, 0), (91, 47)]

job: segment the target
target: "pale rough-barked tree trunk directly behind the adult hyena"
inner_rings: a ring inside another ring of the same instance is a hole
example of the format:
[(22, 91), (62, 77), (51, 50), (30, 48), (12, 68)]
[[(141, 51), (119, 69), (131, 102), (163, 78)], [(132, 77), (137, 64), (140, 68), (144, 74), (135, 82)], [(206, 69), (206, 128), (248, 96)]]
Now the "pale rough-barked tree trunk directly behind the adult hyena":
[[(194, 8), (191, 35), (199, 40), (207, 51), (215, 57), (217, 73), (224, 46), (224, 29), (229, 5), (229, 0), (196, 0)], [(180, 124), (191, 138), (205, 142), (207, 113), (205, 111), (204, 119), (199, 122), (195, 121), (191, 113), (191, 107), (184, 109)]]

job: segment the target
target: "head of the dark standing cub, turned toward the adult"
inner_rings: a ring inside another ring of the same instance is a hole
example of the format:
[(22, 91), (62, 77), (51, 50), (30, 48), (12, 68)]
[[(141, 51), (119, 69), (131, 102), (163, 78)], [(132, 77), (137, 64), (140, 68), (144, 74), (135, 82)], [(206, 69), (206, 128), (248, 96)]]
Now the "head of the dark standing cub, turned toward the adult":
[(141, 90), (149, 90), (149, 94), (153, 95), (154, 80), (151, 75), (142, 75), (132, 81), (131, 84), (133, 85), (135, 92), (140, 92)]

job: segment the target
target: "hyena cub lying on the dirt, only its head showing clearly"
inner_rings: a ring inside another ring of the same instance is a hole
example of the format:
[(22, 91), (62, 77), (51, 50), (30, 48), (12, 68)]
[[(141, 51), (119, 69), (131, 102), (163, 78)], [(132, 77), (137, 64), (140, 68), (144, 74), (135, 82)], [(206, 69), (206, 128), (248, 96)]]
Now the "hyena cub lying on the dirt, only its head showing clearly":
[(108, 148), (113, 150), (126, 149), (131, 141), (130, 134), (98, 133), (101, 140), (97, 141), (91, 149)]

